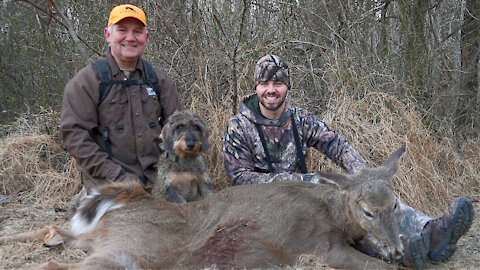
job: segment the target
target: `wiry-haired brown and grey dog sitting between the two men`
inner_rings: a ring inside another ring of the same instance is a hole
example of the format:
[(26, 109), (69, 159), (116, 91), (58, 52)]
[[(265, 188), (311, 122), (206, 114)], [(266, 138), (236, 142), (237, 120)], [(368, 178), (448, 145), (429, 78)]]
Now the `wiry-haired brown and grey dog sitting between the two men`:
[(159, 137), (159, 148), (164, 152), (157, 163), (154, 197), (184, 203), (213, 193), (201, 156), (209, 148), (208, 135), (204, 121), (196, 114), (182, 111), (169, 117)]

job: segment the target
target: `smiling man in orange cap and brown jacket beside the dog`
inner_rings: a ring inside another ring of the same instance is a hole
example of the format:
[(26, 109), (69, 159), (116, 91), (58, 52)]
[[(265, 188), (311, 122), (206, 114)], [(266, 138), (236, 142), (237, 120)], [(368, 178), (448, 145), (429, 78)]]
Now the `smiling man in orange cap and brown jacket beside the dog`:
[(126, 4), (112, 9), (103, 58), (80, 70), (65, 87), (60, 128), (87, 193), (97, 186), (137, 179), (146, 189), (160, 155), (154, 140), (177, 109), (179, 95), (160, 68), (142, 59), (146, 16)]

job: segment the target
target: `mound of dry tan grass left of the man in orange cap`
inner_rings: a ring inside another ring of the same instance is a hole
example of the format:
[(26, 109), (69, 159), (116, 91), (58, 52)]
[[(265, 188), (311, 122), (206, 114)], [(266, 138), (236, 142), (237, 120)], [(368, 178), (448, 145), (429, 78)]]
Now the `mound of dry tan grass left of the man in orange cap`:
[(62, 206), (81, 188), (74, 161), (63, 150), (55, 126), (56, 114), (45, 111), (32, 119), (19, 118), (0, 140), (1, 194), (31, 199), (38, 206)]

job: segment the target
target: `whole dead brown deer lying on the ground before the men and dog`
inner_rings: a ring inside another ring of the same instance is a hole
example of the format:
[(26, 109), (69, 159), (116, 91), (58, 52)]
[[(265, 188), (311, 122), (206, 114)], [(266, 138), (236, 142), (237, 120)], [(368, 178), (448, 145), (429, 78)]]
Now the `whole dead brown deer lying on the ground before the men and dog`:
[(334, 268), (385, 269), (391, 265), (351, 244), (369, 232), (384, 244), (384, 257), (402, 256), (392, 178), (404, 151), (356, 174), (318, 173), (318, 184), (235, 186), (185, 204), (153, 198), (136, 182), (114, 183), (82, 201), (70, 232), (32, 235), (91, 248), (83, 262), (50, 261), (44, 269), (265, 268), (292, 265), (300, 254)]

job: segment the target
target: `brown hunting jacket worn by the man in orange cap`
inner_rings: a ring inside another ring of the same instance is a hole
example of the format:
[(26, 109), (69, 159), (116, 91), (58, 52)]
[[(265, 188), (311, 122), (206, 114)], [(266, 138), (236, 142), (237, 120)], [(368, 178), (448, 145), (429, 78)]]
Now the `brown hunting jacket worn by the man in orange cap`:
[[(113, 80), (126, 80), (110, 49), (103, 55)], [(122, 89), (113, 84), (99, 105), (100, 77), (92, 64), (81, 69), (66, 85), (62, 101), (60, 128), (67, 151), (75, 158), (88, 190), (106, 182), (140, 178), (144, 184), (153, 180), (153, 165), (159, 150), (154, 139), (161, 123), (175, 110), (181, 109), (173, 81), (159, 68), (154, 68), (160, 87), (160, 102), (148, 85), (131, 85)], [(142, 61), (129, 79), (144, 79)], [(102, 138), (108, 129), (113, 158), (106, 152)]]

